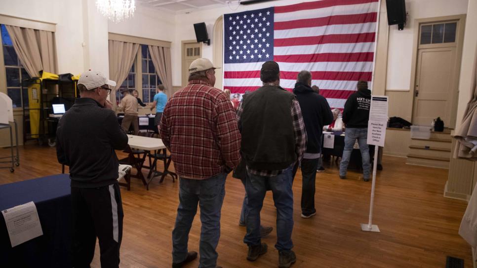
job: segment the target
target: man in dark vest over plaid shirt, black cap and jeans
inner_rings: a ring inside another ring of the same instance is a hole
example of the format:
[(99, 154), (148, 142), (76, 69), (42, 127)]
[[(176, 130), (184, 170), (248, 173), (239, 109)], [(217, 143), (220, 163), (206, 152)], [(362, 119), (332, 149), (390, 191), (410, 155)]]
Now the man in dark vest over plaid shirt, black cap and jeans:
[(267, 244), (261, 242), (260, 210), (270, 188), (277, 207), (278, 263), (280, 268), (288, 268), (296, 262), (291, 250), (292, 170), (306, 150), (306, 131), (298, 101), (279, 86), (279, 71), (276, 62), (262, 65), (263, 86), (243, 96), (237, 121), (242, 134), (242, 160), (247, 170), (247, 234), (243, 239), (248, 245), (247, 260), (255, 261), (267, 252)]

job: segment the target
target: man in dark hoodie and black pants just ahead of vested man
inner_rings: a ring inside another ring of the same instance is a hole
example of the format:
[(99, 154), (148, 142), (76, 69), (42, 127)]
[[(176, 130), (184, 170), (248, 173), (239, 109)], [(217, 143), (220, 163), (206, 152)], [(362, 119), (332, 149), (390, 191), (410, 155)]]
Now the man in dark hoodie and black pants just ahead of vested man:
[(323, 126), (331, 124), (333, 114), (328, 101), (312, 88), (312, 74), (309, 71), (298, 73), (293, 93), (300, 103), (305, 129), (307, 131), (307, 149), (301, 161), (302, 192), (301, 217), (310, 218), (317, 214), (315, 209), (315, 179), (318, 159), (321, 155), (321, 131)]

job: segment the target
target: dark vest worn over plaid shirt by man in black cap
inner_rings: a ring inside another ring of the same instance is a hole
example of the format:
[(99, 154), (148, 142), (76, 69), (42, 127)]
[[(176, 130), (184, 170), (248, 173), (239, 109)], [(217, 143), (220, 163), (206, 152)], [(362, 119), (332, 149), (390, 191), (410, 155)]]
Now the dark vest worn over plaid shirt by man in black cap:
[(279, 86), (263, 86), (243, 96), (241, 152), (255, 170), (281, 170), (293, 164), (295, 133), (291, 104), (295, 96)]

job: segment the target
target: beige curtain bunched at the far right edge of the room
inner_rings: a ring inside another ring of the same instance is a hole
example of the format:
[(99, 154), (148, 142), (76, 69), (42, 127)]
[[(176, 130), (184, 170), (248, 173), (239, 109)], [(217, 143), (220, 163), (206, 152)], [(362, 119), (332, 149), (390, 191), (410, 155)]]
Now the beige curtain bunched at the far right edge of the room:
[[(476, 48), (477, 51), (477, 48)], [(467, 103), (462, 125), (455, 131), (454, 138), (457, 139), (457, 146), (454, 150), (454, 158), (464, 158), (477, 160), (477, 53), (474, 60), (474, 71), (472, 77), (472, 89), (474, 95)]]

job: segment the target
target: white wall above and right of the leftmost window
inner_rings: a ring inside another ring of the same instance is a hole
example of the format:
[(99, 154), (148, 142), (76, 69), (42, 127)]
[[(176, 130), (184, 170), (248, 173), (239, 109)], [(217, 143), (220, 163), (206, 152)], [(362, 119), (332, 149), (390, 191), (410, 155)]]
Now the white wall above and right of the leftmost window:
[(56, 24), (59, 73), (83, 70), (82, 5), (78, 0), (1, 0), (0, 14)]

